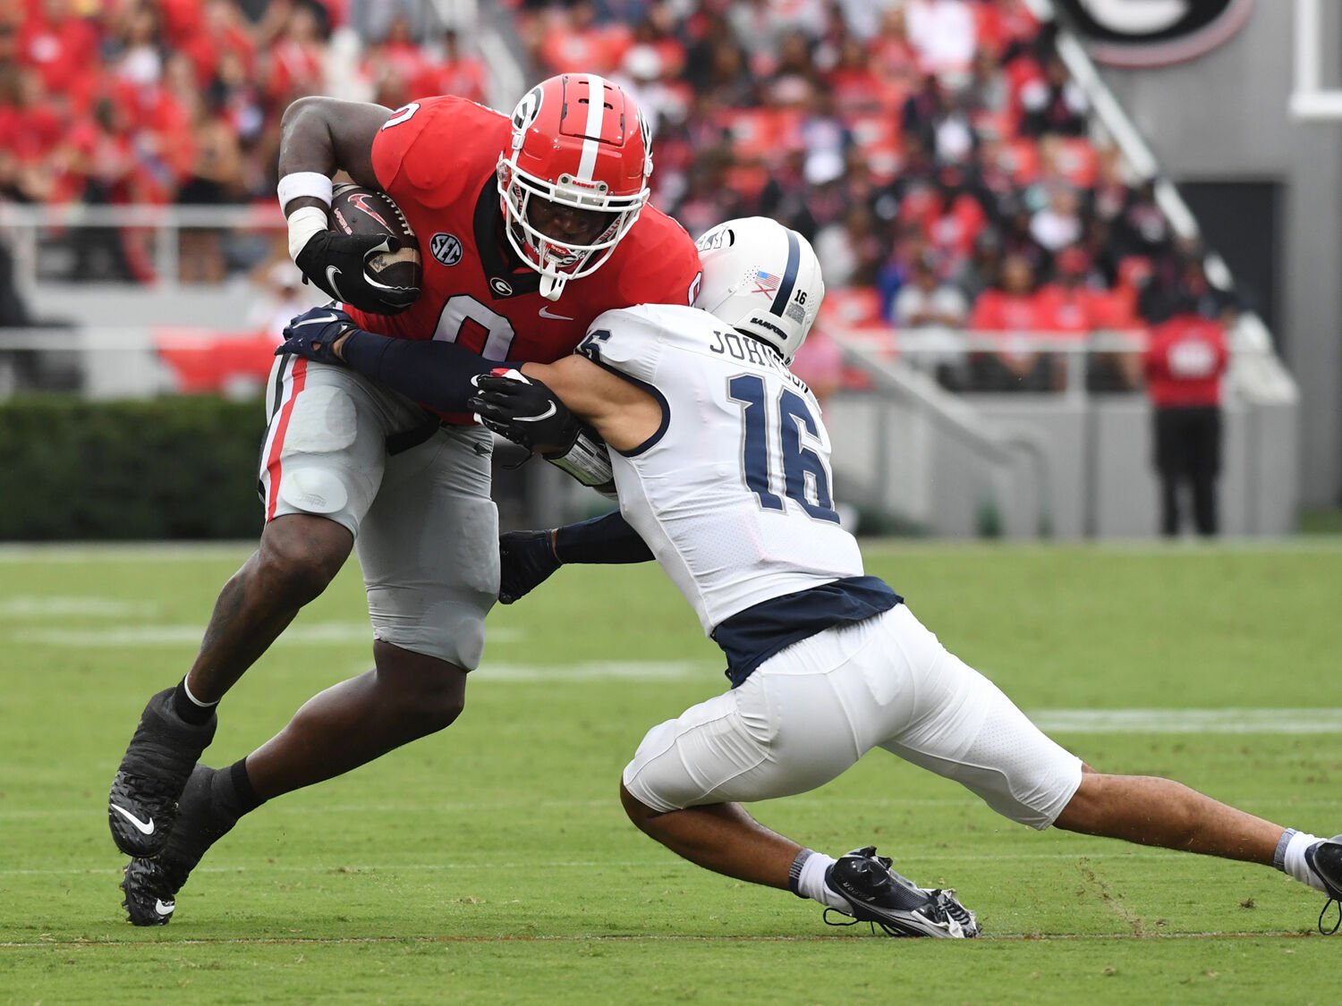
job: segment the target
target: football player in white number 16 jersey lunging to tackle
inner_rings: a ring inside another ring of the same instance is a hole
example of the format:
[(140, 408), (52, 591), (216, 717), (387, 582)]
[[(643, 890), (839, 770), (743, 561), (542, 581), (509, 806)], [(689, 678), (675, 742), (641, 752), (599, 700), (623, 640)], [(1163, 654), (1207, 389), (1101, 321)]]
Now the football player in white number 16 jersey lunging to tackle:
[[(542, 452), (569, 451), (574, 416), (589, 424), (620, 500), (619, 514), (505, 535), (501, 600), (561, 562), (656, 558), (727, 657), (731, 688), (655, 726), (625, 766), (633, 824), (707, 869), (892, 935), (977, 935), (953, 892), (915, 887), (874, 848), (833, 860), (739, 806), (815, 789), (880, 747), (1036, 829), (1272, 864), (1342, 900), (1342, 836), (1286, 829), (1170, 779), (1094, 771), (864, 575), (833, 511), (820, 410), (788, 370), (824, 294), (815, 254), (761, 217), (727, 221), (699, 248), (698, 307), (609, 311), (574, 355), (479, 377), (474, 398), (487, 425)], [(416, 353), (372, 376), (420, 398), (424, 384), (460, 380), (459, 359), (431, 358), (444, 350)]]

